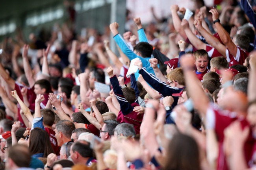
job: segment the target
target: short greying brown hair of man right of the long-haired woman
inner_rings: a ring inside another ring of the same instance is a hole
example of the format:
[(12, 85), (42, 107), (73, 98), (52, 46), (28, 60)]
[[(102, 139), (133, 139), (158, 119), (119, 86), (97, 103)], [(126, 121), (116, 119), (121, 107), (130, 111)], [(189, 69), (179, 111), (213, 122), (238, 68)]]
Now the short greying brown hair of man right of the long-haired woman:
[(76, 129), (76, 127), (75, 127), (74, 123), (69, 120), (60, 120), (56, 124), (56, 130), (58, 132), (63, 133), (63, 135), (65, 135), (66, 137), (69, 137), (69, 138), (71, 138), (72, 131), (75, 129)]

